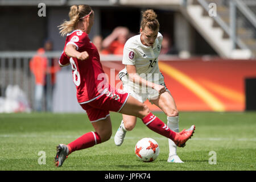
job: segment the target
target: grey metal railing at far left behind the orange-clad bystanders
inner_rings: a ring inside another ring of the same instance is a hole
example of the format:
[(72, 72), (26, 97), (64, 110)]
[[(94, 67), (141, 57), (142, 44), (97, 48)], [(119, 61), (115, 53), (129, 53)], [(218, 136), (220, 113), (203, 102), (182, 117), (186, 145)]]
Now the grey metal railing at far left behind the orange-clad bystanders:
[[(61, 52), (50, 52), (44, 56), (47, 57), (47, 67), (49, 68), (49, 60), (58, 59)], [(32, 57), (37, 55), (36, 52), (0, 52), (0, 97), (6, 97), (8, 86), (16, 85), (26, 94), (31, 109), (35, 110), (35, 77), (30, 70), (30, 61)], [(46, 84), (44, 85), (43, 98), (52, 96), (51, 74), (46, 74)], [(43, 99), (45, 100), (45, 99)], [(49, 97), (48, 100), (52, 100)], [(49, 101), (48, 101), (49, 102)], [(42, 111), (51, 111), (51, 107), (47, 107), (47, 103), (42, 103)]]

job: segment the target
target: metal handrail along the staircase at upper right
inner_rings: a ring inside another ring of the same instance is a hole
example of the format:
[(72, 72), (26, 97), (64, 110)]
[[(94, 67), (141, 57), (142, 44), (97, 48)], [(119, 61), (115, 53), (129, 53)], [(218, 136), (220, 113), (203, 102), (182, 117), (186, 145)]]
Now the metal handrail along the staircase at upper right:
[[(210, 3), (216, 4), (217, 16), (212, 16), (217, 24), (232, 40), (232, 49), (250, 49), (256, 57), (256, 16), (253, 7), (255, 1), (250, 0), (183, 0), (181, 5), (198, 4), (204, 11), (209, 12)], [(248, 6), (253, 7), (248, 7)], [(255, 9), (256, 10), (256, 9)]]

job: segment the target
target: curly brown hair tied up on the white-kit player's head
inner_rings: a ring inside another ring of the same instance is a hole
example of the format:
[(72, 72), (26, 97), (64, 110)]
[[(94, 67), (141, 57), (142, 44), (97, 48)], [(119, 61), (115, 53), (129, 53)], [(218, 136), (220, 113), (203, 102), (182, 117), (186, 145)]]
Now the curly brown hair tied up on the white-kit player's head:
[(159, 22), (157, 18), (158, 15), (156, 15), (154, 10), (146, 10), (142, 12), (142, 21), (141, 21), (141, 28), (144, 30), (144, 28), (147, 26), (151, 30), (155, 31), (159, 28)]

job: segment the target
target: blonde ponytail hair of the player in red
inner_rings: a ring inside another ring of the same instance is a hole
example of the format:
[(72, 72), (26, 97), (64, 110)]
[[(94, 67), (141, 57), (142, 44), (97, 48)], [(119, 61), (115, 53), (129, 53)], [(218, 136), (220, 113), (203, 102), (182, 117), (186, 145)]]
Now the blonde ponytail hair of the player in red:
[(92, 8), (89, 5), (72, 5), (68, 13), (69, 21), (64, 20), (64, 22), (58, 26), (61, 36), (75, 30), (77, 23), (83, 16), (88, 15), (90, 11), (92, 11)]

